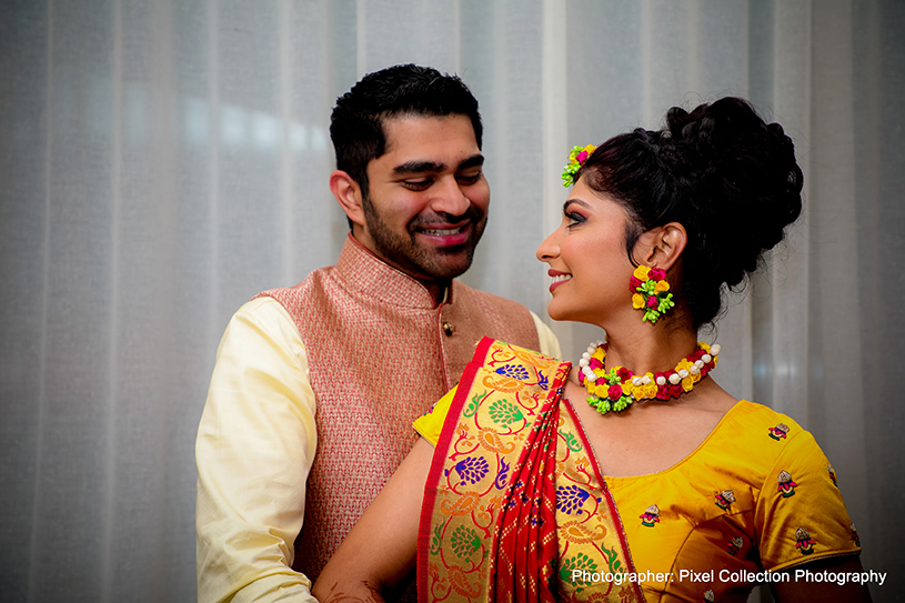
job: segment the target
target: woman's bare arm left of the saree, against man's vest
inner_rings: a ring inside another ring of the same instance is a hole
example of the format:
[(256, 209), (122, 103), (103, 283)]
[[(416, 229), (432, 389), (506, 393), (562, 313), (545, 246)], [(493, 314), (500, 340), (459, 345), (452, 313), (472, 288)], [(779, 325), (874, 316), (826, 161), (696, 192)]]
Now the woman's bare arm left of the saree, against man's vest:
[(318, 576), (321, 603), (381, 602), (415, 565), (418, 524), (434, 449), (420, 438)]

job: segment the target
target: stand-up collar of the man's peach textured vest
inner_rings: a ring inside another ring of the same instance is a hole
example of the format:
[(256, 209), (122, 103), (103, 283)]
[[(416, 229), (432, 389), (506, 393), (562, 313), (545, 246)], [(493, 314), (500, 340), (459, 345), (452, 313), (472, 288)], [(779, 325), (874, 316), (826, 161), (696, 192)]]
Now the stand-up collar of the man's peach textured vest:
[[(348, 287), (381, 303), (404, 308), (434, 310), (434, 299), (428, 289), (371, 253), (350, 232), (336, 260), (338, 274)], [(452, 281), (440, 305), (452, 303)]]

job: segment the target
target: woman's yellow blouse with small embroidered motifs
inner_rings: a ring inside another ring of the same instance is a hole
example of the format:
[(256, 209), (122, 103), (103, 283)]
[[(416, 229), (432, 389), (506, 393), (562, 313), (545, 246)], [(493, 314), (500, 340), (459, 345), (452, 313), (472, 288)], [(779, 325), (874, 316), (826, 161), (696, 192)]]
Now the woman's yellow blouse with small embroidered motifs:
[[(434, 445), (451, 402), (414, 423)], [(761, 404), (736, 403), (670, 469), (605, 480), (648, 603), (745, 601), (757, 583), (794, 580), (764, 570), (861, 551), (814, 438)]]

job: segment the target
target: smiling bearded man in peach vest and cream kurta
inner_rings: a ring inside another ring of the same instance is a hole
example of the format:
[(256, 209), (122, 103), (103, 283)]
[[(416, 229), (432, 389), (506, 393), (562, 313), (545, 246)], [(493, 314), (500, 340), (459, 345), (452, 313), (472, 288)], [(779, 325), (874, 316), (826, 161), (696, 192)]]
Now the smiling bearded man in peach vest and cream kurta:
[(453, 280), (490, 203), (477, 101), (459, 78), (371, 73), (338, 100), (330, 134), (352, 230), (336, 265), (243, 305), (218, 350), (197, 443), (202, 603), (311, 601), (309, 577), (482, 335), (559, 354), (525, 308)]

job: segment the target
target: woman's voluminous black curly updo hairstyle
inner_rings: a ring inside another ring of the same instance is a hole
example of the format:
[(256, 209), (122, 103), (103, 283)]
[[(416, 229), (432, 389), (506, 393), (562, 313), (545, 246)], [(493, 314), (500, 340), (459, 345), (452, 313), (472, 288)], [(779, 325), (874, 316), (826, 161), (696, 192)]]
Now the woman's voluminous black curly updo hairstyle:
[(668, 222), (685, 227), (674, 293), (695, 330), (720, 314), (723, 283), (743, 288), (802, 211), (804, 177), (792, 140), (737, 98), (691, 113), (673, 107), (662, 130), (636, 129), (603, 143), (579, 177), (633, 219), (625, 244), (635, 265), (642, 233)]

